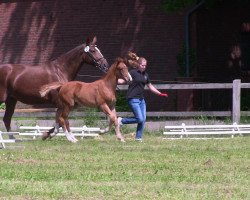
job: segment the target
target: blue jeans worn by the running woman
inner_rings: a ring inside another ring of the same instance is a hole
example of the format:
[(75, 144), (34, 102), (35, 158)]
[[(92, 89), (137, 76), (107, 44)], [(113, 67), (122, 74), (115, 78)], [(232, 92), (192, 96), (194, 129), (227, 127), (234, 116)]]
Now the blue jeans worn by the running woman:
[(134, 117), (122, 118), (121, 122), (122, 124), (138, 124), (135, 138), (141, 139), (146, 122), (146, 102), (144, 99), (129, 99), (128, 104)]

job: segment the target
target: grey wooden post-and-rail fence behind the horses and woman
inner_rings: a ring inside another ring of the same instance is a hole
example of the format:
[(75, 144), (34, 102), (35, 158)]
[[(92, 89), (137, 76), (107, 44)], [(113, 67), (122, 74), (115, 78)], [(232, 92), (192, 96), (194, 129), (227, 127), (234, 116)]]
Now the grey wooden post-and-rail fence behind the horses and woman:
[[(185, 83), (185, 84), (154, 84), (157, 89), (166, 90), (185, 90), (185, 89), (231, 89), (232, 90), (232, 110), (231, 111), (186, 111), (186, 112), (176, 112), (176, 111), (164, 111), (164, 112), (147, 112), (149, 117), (195, 117), (195, 116), (214, 116), (214, 117), (232, 117), (232, 121), (239, 123), (240, 116), (249, 116), (249, 111), (241, 111), (240, 109), (240, 95), (242, 88), (250, 88), (250, 83), (241, 83), (241, 80), (234, 80), (233, 83)], [(127, 85), (119, 85), (120, 90), (127, 90)], [(35, 117), (54, 117), (55, 109), (30, 109), (30, 110), (15, 110), (14, 116), (16, 117), (34, 117), (34, 112), (36, 112)], [(53, 112), (53, 113), (52, 113)], [(4, 111), (0, 112), (0, 117), (3, 117)], [(82, 117), (83, 112), (73, 112), (73, 116)], [(100, 113), (101, 116), (104, 114)], [(118, 113), (119, 116), (131, 116), (131, 112)]]

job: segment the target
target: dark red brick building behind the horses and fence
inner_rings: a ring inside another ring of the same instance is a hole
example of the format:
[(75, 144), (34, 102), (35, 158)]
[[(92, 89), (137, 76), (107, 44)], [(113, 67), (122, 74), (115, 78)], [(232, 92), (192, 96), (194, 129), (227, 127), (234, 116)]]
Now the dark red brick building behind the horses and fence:
[[(185, 76), (180, 72), (180, 57), (185, 56), (187, 30), (190, 50), (195, 53), (192, 80), (231, 82), (241, 75), (239, 63), (249, 63), (248, 1), (244, 5), (240, 1), (219, 1), (209, 8), (203, 4), (190, 15), (188, 29), (185, 20), (192, 7), (163, 12), (160, 0), (2, 2), (1, 63), (43, 63), (83, 43), (87, 36), (96, 35), (98, 47), (109, 63), (132, 50), (148, 59), (153, 83), (172, 83)], [(243, 58), (237, 57), (239, 52)], [(248, 69), (246, 64), (240, 69), (246, 81)], [(76, 79), (90, 82), (101, 75), (98, 69), (84, 66)], [(167, 102), (147, 93), (149, 110), (178, 110), (178, 92), (168, 93)], [(212, 91), (208, 95), (197, 93), (195, 98), (202, 100), (196, 101), (192, 109), (228, 109), (230, 94), (225, 93), (221, 103), (214, 100), (217, 94)], [(186, 110), (185, 105), (181, 109)]]

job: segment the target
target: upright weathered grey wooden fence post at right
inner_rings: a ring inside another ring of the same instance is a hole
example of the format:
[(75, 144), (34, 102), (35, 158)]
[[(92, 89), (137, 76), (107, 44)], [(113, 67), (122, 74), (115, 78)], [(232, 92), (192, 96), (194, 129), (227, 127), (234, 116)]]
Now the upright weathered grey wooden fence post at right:
[(241, 90), (241, 80), (235, 79), (233, 81), (233, 110), (232, 110), (232, 120), (233, 123), (239, 124), (240, 122), (240, 90)]

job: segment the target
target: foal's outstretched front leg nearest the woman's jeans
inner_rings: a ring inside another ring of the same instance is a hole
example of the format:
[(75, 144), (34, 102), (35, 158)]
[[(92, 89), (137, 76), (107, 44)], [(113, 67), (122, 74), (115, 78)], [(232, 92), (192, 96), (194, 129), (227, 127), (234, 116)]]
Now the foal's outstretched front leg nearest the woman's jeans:
[(118, 140), (121, 140), (121, 142), (125, 142), (124, 137), (120, 131), (120, 127), (118, 125), (118, 120), (117, 120), (117, 115), (116, 115), (116, 110), (114, 107), (111, 107), (111, 109), (108, 107), (107, 104), (103, 104), (100, 106), (102, 111), (107, 114), (107, 116), (110, 119), (109, 127), (108, 129), (110, 130), (112, 124), (115, 124), (115, 133), (116, 133), (116, 138)]

